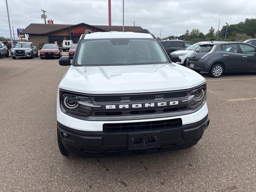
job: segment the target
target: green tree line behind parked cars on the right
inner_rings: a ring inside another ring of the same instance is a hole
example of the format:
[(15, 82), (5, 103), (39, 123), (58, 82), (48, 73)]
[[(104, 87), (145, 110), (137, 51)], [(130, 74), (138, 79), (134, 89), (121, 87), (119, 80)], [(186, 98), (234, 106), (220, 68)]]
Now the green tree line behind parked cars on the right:
[[(202, 33), (199, 29), (186, 30), (186, 33), (181, 36), (168, 36), (168, 39), (179, 39), (190, 42), (197, 42), (200, 40), (225, 40), (238, 41), (249, 38), (256, 38), (256, 18), (246, 19), (244, 22), (238, 24), (231, 24), (228, 26), (226, 34), (226, 25), (222, 26), (220, 31), (216, 31), (213, 27), (210, 28), (207, 34)], [(158, 38), (160, 39), (160, 38)]]

